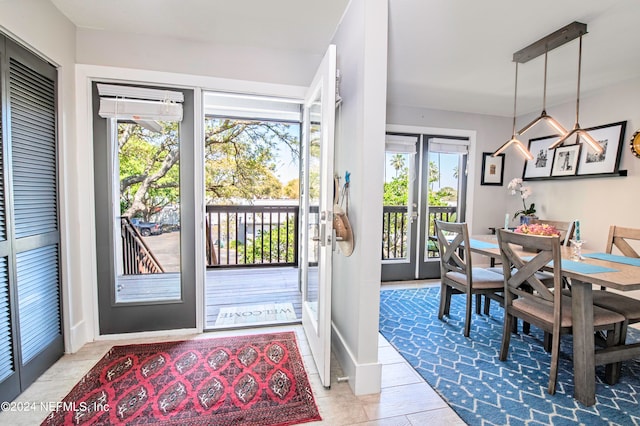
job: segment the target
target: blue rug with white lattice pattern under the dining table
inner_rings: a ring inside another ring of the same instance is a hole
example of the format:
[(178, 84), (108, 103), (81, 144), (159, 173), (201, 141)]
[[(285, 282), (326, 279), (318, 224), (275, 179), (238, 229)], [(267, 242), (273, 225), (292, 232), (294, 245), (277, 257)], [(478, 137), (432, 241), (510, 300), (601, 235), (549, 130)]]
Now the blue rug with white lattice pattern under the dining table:
[[(464, 296), (453, 296), (451, 315), (438, 320), (440, 288), (383, 290), (380, 332), (470, 425), (640, 425), (640, 360), (623, 363), (620, 381), (604, 383), (597, 369), (596, 404), (573, 399), (571, 337), (563, 336), (558, 386), (547, 393), (550, 355), (543, 334), (512, 335), (509, 356), (498, 359), (503, 311), (473, 315), (470, 338), (462, 333)], [(475, 311), (474, 311), (475, 312)], [(640, 340), (630, 330), (627, 341)]]

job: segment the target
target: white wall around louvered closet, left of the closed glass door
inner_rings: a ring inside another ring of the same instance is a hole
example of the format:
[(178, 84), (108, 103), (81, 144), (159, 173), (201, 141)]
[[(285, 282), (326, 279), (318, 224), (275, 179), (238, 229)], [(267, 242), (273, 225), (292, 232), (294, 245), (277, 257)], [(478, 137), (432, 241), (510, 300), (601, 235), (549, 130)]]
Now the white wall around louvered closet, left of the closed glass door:
[[(90, 291), (83, 235), (77, 226), (85, 211), (78, 191), (75, 122), (75, 26), (45, 0), (0, 2), (0, 31), (58, 67), (59, 186), (62, 248), (62, 307), (66, 350), (73, 352), (86, 342), (83, 293)], [(53, 36), (55, 35), (55, 36)], [(86, 240), (86, 238), (85, 238)], [(89, 276), (90, 278), (90, 276)]]

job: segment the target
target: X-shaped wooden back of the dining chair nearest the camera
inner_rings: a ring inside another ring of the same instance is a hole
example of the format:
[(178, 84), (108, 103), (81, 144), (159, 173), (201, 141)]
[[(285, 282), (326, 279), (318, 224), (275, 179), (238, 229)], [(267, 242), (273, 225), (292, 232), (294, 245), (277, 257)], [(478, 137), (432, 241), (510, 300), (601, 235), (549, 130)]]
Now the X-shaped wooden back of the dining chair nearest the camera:
[[(512, 305), (515, 298), (524, 298), (547, 305), (553, 304), (554, 323), (560, 325), (561, 268), (553, 268), (553, 291), (536, 276), (536, 272), (551, 261), (554, 266), (561, 265), (560, 237), (518, 234), (500, 229), (498, 246), (500, 247), (502, 269), (505, 276), (505, 309)], [(522, 252), (521, 247), (535, 249), (537, 253), (531, 253), (531, 258), (525, 262), (523, 257), (528, 257), (529, 253)]]

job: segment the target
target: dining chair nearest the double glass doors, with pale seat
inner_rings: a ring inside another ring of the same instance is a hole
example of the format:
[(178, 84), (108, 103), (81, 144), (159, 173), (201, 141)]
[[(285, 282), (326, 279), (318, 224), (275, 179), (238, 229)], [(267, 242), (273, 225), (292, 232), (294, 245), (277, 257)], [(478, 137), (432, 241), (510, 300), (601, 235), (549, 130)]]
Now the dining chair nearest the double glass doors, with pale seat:
[(484, 268), (474, 268), (467, 224), (435, 221), (440, 250), (440, 309), (438, 319), (449, 315), (451, 296), (466, 295), (464, 336), (471, 331), (471, 306), (476, 295), (476, 314), (480, 314), (481, 296), (486, 295), (502, 304), (504, 277)]

